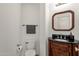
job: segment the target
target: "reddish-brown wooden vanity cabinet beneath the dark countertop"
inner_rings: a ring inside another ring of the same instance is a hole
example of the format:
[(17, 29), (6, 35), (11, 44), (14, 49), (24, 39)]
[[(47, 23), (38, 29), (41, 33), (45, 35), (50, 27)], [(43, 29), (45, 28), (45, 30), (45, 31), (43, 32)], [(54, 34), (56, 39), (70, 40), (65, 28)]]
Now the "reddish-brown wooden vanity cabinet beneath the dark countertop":
[[(78, 56), (79, 44), (48, 40), (49, 56)], [(78, 49), (77, 49), (78, 50)]]

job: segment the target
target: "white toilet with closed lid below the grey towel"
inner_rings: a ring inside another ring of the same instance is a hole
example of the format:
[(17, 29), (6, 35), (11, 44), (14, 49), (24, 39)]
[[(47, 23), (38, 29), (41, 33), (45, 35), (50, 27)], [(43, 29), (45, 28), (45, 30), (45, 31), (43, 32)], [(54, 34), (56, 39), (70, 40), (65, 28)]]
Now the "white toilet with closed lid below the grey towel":
[(35, 42), (34, 41), (28, 41), (25, 42), (25, 56), (35, 56)]

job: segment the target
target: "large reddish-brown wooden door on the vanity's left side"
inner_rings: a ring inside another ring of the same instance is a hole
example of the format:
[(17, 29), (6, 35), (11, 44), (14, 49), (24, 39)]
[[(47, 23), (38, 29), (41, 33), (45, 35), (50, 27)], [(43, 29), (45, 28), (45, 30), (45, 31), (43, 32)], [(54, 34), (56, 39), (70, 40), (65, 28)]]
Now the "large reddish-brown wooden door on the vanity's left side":
[(52, 43), (53, 56), (69, 56), (71, 55), (71, 45), (62, 42)]

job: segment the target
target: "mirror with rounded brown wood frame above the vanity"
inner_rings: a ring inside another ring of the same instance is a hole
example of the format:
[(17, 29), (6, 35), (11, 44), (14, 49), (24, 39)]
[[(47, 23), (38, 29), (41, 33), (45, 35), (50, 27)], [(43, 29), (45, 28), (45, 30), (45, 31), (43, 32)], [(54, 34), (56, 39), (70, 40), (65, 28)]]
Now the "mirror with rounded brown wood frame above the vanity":
[(55, 13), (52, 16), (52, 28), (55, 31), (70, 31), (74, 28), (74, 12), (71, 10)]

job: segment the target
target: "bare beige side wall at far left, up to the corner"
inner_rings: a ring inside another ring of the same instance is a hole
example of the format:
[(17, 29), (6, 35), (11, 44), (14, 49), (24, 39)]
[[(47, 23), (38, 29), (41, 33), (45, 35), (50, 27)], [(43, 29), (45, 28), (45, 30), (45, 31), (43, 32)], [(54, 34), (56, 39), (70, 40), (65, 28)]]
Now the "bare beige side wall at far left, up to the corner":
[(16, 55), (20, 4), (0, 4), (0, 55)]

